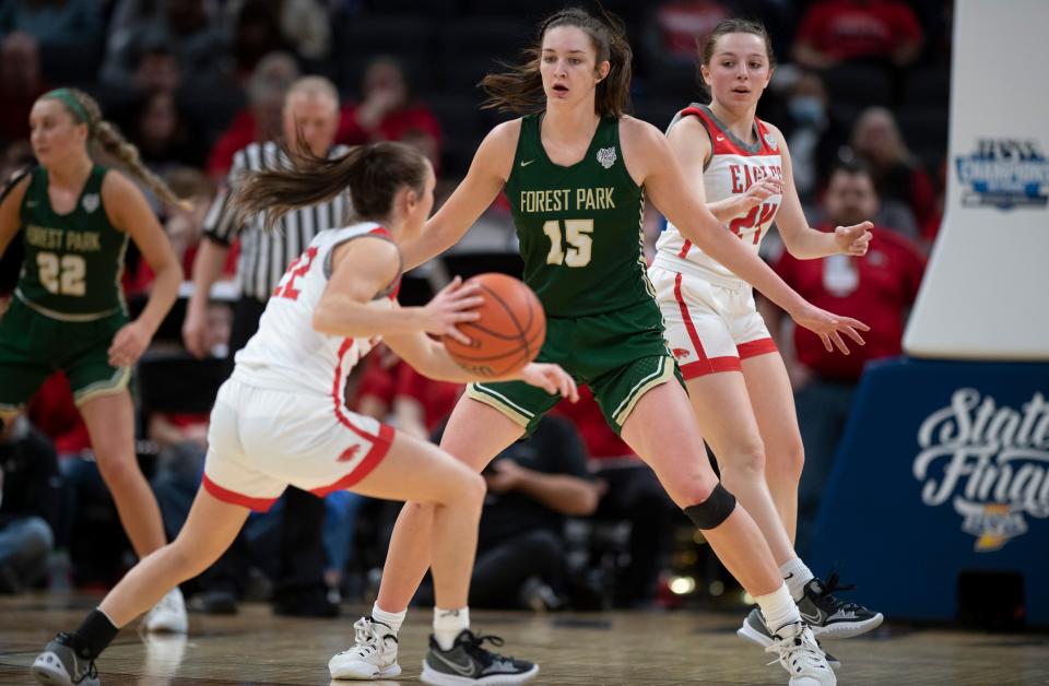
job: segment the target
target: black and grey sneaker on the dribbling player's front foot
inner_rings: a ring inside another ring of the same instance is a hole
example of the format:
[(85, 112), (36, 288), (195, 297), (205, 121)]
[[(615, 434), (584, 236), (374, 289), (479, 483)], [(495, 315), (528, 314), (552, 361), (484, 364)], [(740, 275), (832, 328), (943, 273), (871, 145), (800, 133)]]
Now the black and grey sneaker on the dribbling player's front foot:
[(463, 629), (456, 637), (451, 650), (441, 650), (437, 639), (429, 637), (429, 652), (423, 660), (420, 679), (437, 686), (460, 684), (523, 684), (539, 674), (539, 665), (524, 660), (505, 658), (481, 647), (490, 641), (496, 648), (503, 646), (498, 636), (474, 636)]

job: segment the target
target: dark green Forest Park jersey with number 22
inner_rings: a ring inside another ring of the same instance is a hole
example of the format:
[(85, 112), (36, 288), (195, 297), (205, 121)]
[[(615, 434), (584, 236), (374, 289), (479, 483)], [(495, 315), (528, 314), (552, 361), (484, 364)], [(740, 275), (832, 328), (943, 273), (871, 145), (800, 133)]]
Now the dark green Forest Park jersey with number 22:
[(109, 223), (95, 165), (69, 214), (47, 196), (47, 169), (37, 167), (22, 200), (25, 261), (15, 291), (38, 312), (66, 321), (90, 321), (125, 310), (120, 277), (128, 235)]

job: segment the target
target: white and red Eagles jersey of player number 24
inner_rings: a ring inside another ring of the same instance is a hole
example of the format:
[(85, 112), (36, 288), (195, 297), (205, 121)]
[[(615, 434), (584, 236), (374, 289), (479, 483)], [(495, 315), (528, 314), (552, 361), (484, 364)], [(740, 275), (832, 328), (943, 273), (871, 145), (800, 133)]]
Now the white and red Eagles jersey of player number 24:
[[(677, 113), (670, 126), (673, 127), (682, 117), (698, 117), (710, 137), (710, 162), (703, 173), (707, 202), (718, 202), (745, 193), (751, 184), (768, 176), (782, 178), (783, 164), (779, 142), (759, 119), (754, 120), (757, 142), (749, 145), (722, 126), (706, 105), (686, 107)], [(770, 196), (750, 212), (732, 217), (724, 226), (756, 255), (762, 237), (773, 225), (781, 202), (782, 196)], [(744, 284), (728, 268), (682, 236), (673, 224), (667, 224), (667, 230), (656, 243), (656, 249), (655, 263), (665, 269), (698, 274), (728, 286)]]

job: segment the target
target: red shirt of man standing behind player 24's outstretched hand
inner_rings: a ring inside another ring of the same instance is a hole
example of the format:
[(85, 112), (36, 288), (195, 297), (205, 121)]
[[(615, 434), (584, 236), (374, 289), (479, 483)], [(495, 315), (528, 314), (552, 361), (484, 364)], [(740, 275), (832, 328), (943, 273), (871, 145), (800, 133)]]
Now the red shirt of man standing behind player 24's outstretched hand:
[(799, 260), (785, 250), (776, 263), (776, 272), (803, 298), (871, 327), (863, 333), (867, 345), (849, 345), (851, 355), (828, 353), (817, 335), (794, 330), (798, 360), (824, 378), (857, 381), (868, 360), (900, 354), (904, 316), (918, 297), (926, 258), (892, 229), (875, 227), (873, 233), (870, 250), (860, 258)]

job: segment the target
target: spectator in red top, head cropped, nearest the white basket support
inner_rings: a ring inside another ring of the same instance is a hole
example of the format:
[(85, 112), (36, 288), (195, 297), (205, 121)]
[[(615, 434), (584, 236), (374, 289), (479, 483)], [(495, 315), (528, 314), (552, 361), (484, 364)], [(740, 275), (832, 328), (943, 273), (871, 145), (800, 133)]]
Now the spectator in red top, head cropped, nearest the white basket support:
[(869, 59), (896, 67), (921, 55), (924, 33), (901, 0), (822, 0), (805, 12), (793, 57), (811, 69)]

